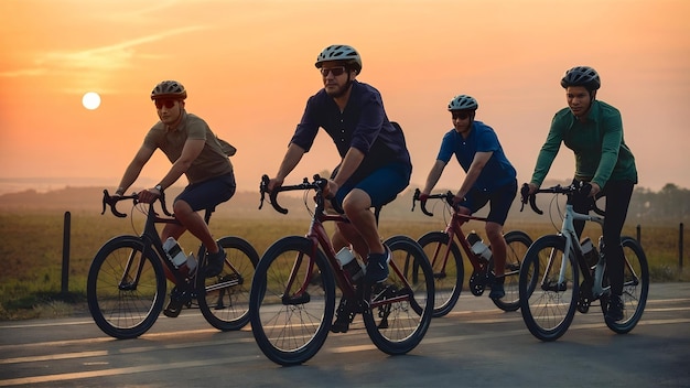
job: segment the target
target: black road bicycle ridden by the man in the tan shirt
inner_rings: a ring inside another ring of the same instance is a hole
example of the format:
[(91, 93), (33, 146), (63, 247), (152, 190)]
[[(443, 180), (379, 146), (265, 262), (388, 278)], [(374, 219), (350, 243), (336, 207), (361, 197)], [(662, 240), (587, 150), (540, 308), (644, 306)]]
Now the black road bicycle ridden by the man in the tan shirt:
[[(223, 271), (204, 279), (206, 248), (198, 248), (200, 260), (192, 273), (179, 270), (168, 259), (157, 230), (157, 224), (177, 223), (165, 206), (161, 195), (157, 202), (165, 215), (150, 205), (138, 202), (138, 195), (110, 196), (104, 191), (103, 213), (106, 206), (117, 217), (127, 215), (118, 212), (120, 201), (132, 201), (132, 212), (147, 214), (143, 233), (140, 236), (117, 236), (107, 241), (96, 254), (86, 283), (88, 309), (98, 327), (116, 338), (133, 338), (145, 333), (163, 310), (166, 295), (165, 268), (174, 277), (175, 287), (171, 301), (187, 308), (198, 305), (202, 314), (214, 327), (234, 331), (249, 322), (249, 290), (259, 255), (254, 247), (240, 237), (228, 236), (218, 239), (227, 259)], [(148, 207), (148, 208), (147, 208)], [(214, 208), (204, 214), (206, 224)], [(200, 276), (196, 276), (200, 273)], [(179, 310), (166, 313), (176, 316)]]

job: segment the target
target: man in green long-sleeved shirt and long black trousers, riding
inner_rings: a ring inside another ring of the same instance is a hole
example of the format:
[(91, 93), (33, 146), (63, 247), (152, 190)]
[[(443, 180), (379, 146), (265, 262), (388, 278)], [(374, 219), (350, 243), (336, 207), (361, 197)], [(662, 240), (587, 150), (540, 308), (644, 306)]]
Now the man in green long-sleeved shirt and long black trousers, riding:
[[(627, 216), (633, 187), (637, 183), (635, 157), (623, 139), (623, 121), (618, 109), (596, 100), (601, 80), (596, 71), (576, 66), (561, 79), (565, 89), (568, 108), (556, 114), (547, 141), (539, 152), (537, 165), (529, 183), (533, 193), (543, 182), (561, 142), (573, 150), (575, 175), (573, 183), (589, 182), (590, 196), (606, 196), (606, 217), (603, 227), (604, 252), (612, 295), (606, 320), (623, 319), (623, 248), (621, 230)], [(587, 211), (585, 201), (574, 201), (575, 212)], [(575, 222), (581, 235), (584, 222)]]

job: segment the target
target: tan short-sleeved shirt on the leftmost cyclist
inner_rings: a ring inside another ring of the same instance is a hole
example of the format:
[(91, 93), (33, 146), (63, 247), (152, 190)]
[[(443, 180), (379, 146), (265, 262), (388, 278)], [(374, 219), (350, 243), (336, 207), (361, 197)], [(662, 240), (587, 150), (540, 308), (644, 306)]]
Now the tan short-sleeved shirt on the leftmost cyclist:
[(202, 152), (185, 172), (190, 184), (233, 172), (230, 160), (223, 152), (220, 143), (206, 121), (186, 111), (183, 112), (180, 125), (171, 130), (168, 130), (163, 122), (157, 122), (147, 133), (143, 143), (153, 150), (161, 149), (168, 160), (174, 163), (182, 155), (182, 149), (187, 139), (201, 139), (206, 142)]

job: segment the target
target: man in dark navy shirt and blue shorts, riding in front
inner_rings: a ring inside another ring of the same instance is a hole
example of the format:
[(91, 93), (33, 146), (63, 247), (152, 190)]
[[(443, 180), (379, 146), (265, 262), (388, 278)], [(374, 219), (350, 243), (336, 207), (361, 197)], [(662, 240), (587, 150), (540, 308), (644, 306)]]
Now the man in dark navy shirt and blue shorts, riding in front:
[(381, 244), (371, 207), (381, 206), (410, 182), (412, 164), (400, 127), (388, 120), (379, 91), (357, 82), (362, 58), (347, 45), (331, 45), (316, 60), (324, 87), (310, 97), (302, 120), (269, 190), (285, 176), (311, 149), (323, 128), (333, 139), (341, 163), (324, 195), (333, 197), (351, 223), (338, 223), (333, 236), (336, 251), (351, 244), (366, 257), (369, 283), (388, 278), (390, 251)]

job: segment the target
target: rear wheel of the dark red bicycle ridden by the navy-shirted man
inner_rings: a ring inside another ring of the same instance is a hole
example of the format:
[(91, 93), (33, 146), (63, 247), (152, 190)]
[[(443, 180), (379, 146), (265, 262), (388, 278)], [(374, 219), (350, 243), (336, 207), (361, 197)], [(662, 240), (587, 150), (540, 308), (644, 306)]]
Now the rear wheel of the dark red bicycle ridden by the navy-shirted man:
[(365, 289), (370, 309), (364, 324), (381, 352), (406, 354), (422, 341), (433, 316), (433, 270), (413, 239), (393, 236), (385, 244), (391, 251), (390, 276)]

